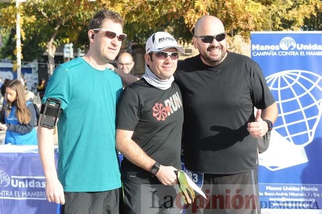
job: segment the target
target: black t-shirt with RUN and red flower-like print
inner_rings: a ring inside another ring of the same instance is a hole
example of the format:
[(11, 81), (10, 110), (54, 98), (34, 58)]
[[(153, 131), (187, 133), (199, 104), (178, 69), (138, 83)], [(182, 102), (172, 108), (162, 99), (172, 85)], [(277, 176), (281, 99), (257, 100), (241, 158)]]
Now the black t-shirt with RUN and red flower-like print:
[[(126, 87), (119, 98), (117, 128), (134, 131), (132, 139), (149, 157), (178, 170), (183, 122), (182, 96), (176, 83), (162, 90), (142, 78)], [(126, 158), (121, 164), (121, 177), (122, 181), (159, 183)]]

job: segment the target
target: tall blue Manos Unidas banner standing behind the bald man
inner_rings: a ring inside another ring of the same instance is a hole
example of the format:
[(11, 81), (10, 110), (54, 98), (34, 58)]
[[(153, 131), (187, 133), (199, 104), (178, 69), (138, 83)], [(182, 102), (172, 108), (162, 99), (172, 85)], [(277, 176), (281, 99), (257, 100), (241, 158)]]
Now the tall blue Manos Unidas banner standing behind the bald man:
[(322, 214), (322, 32), (251, 32), (251, 57), (278, 106), (259, 155), (262, 213)]

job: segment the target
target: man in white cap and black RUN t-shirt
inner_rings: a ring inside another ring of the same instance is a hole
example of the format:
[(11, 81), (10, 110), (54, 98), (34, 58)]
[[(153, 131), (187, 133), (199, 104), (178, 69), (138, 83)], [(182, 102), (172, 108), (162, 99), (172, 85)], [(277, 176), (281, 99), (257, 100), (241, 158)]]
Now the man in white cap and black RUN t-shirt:
[[(126, 87), (117, 108), (116, 147), (121, 164), (123, 214), (177, 214), (177, 176), (181, 169), (182, 96), (174, 83), (184, 50), (166, 32), (146, 42), (146, 72)], [(180, 198), (178, 199), (180, 201)]]

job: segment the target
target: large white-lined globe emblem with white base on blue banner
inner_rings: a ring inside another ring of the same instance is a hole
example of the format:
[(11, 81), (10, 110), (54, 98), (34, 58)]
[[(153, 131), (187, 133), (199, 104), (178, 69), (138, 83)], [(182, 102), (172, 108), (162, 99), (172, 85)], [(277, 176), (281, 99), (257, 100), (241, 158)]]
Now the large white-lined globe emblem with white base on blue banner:
[(268, 150), (259, 155), (271, 171), (308, 162), (305, 146), (314, 138), (322, 113), (322, 77), (304, 70), (287, 70), (266, 78), (276, 99), (278, 116)]

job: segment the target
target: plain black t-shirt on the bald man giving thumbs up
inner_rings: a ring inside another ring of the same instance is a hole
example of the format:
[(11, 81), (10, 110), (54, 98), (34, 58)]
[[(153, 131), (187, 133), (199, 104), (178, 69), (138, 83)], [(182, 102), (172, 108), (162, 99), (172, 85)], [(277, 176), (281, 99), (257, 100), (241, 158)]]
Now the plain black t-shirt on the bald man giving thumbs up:
[(183, 95), (187, 169), (216, 174), (254, 169), (258, 139), (247, 123), (255, 121), (254, 106), (264, 109), (275, 102), (258, 64), (228, 52), (212, 67), (197, 55), (178, 63), (175, 81)]

